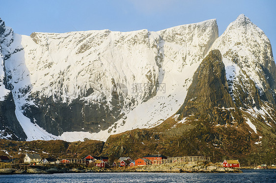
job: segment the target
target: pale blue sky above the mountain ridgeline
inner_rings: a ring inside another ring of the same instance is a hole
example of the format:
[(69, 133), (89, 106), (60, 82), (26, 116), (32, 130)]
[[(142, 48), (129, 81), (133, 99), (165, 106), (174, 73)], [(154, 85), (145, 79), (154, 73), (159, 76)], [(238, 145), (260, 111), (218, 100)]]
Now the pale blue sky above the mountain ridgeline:
[(0, 18), (15, 33), (110, 29), (157, 31), (217, 19), (220, 35), (245, 14), (276, 55), (276, 0), (1, 0)]

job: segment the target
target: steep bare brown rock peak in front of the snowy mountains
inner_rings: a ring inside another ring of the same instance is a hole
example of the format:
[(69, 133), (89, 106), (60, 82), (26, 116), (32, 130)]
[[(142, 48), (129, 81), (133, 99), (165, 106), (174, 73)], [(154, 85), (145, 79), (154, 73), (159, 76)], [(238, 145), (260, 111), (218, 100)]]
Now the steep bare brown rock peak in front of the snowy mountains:
[(191, 117), (225, 124), (232, 120), (235, 104), (228, 93), (225, 68), (219, 50), (212, 50), (193, 75), (178, 119)]

